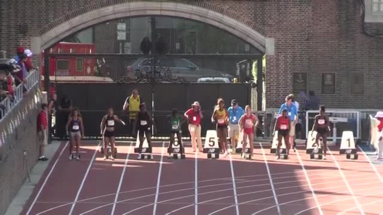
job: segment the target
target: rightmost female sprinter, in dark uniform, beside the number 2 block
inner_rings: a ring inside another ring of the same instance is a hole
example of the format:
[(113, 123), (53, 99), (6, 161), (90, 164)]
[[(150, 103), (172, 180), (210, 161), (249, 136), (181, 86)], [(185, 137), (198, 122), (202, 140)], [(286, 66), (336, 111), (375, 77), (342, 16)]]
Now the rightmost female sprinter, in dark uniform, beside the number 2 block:
[(315, 116), (315, 122), (313, 125), (313, 130), (311, 130), (311, 136), (313, 136), (313, 131), (316, 131), (315, 144), (319, 146), (319, 138), (322, 137), (323, 140), (323, 159), (326, 160), (326, 151), (327, 151), (327, 135), (330, 131), (329, 129), (329, 117), (326, 115), (326, 108), (321, 106), (319, 109), (319, 115)]

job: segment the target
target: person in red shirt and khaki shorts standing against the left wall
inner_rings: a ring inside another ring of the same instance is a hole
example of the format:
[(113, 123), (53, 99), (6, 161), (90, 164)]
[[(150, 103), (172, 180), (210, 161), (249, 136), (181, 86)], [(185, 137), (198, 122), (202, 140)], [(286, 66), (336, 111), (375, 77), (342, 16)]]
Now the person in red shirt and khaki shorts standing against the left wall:
[(47, 129), (47, 104), (41, 104), (41, 112), (37, 116), (37, 137), (40, 148), (39, 161), (49, 160), (44, 156), (44, 147), (46, 145), (46, 129)]

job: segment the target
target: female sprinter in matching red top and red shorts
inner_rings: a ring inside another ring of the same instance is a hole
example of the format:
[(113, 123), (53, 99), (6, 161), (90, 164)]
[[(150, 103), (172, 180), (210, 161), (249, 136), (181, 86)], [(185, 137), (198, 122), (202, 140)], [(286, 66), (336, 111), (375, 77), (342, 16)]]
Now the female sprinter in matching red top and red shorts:
[[(245, 151), (247, 138), (249, 137), (250, 144), (250, 153), (253, 154), (253, 140), (254, 140), (254, 131), (258, 126), (258, 117), (251, 113), (250, 105), (246, 105), (245, 114), (239, 119), (239, 126), (241, 127), (241, 132), (243, 131), (243, 145), (242, 151)], [(242, 158), (245, 158), (245, 154), (242, 153)]]

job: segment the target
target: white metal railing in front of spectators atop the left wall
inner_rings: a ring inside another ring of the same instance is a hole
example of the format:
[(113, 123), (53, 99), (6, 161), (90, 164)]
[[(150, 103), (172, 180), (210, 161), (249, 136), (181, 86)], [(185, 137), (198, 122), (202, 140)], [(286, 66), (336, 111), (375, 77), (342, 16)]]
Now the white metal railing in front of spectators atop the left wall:
[(0, 113), (1, 113), (1, 118), (0, 122), (2, 119), (4, 119), (5, 116), (12, 110), (16, 104), (23, 99), (23, 87), (25, 88), (26, 91), (29, 91), (33, 86), (38, 84), (40, 80), (40, 73), (39, 73), (39, 68), (36, 70), (32, 70), (29, 72), (29, 75), (25, 78), (25, 83), (21, 83), (18, 85), (13, 92), (13, 95), (11, 97), (7, 96), (3, 101), (0, 103)]

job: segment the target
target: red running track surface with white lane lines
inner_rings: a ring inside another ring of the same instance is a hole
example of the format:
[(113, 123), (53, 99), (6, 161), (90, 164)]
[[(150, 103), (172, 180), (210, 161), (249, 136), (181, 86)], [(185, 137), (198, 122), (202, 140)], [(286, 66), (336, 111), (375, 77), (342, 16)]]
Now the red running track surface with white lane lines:
[(275, 160), (270, 145), (262, 144), (262, 150), (256, 143), (252, 161), (239, 154), (208, 160), (190, 147), (187, 159), (173, 160), (167, 158), (167, 143), (155, 143), (154, 160), (148, 161), (136, 160), (134, 145), (124, 142), (118, 143), (118, 159), (103, 161), (97, 144), (83, 142), (76, 161), (68, 160), (62, 143), (21, 214), (383, 212), (383, 167), (375, 171), (361, 152), (351, 161), (331, 148), (327, 160), (310, 160), (301, 146), (288, 160)]

